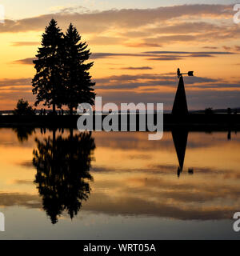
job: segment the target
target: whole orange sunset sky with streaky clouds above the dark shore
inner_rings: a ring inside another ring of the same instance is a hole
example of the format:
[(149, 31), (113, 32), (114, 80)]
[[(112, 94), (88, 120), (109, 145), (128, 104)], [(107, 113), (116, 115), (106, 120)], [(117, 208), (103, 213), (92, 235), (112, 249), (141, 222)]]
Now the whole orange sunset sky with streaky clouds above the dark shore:
[[(32, 60), (51, 18), (65, 32), (73, 22), (92, 52), (90, 70), (103, 102), (163, 102), (170, 110), (176, 70), (191, 110), (240, 107), (238, 1), (0, 1), (0, 110), (19, 98), (34, 104)], [(240, 3), (240, 1), (239, 1)], [(240, 15), (239, 15), (240, 18)], [(42, 107), (42, 106), (38, 106)]]

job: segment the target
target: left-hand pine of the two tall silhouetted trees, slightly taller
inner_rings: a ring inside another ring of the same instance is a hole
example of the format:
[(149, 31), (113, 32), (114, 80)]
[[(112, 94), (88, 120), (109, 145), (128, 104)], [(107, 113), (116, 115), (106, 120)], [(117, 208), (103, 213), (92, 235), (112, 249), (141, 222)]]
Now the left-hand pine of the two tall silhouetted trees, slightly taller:
[(37, 94), (35, 106), (44, 102), (45, 106), (62, 106), (62, 46), (63, 33), (57, 22), (52, 19), (42, 34), (42, 47), (38, 48), (34, 60), (36, 74), (32, 81), (33, 94)]

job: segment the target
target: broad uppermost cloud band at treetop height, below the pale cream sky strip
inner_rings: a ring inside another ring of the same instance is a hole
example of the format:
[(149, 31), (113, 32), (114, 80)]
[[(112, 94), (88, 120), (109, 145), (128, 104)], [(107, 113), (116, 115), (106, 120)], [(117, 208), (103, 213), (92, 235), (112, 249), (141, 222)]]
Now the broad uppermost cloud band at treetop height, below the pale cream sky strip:
[[(82, 8), (82, 7), (81, 7)], [(42, 31), (51, 18), (66, 29), (73, 22), (83, 34), (94, 34), (94, 43), (121, 43), (130, 47), (158, 47), (170, 42), (190, 42), (194, 40), (214, 40), (216, 37), (237, 37), (239, 28), (226, 22), (216, 25), (219, 18), (232, 19), (232, 6), (224, 5), (182, 5), (155, 9), (83, 11), (63, 8), (55, 14), (24, 18), (18, 21), (6, 19), (1, 24), (0, 33)], [(189, 22), (194, 18), (194, 22)], [(204, 20), (202, 21), (202, 18)], [(207, 20), (207, 22), (206, 22)], [(150, 25), (150, 27), (149, 27)], [(99, 37), (99, 33), (102, 33)], [(108, 36), (104, 33), (107, 33)], [(109, 34), (114, 34), (110, 36)], [(168, 35), (166, 35), (168, 34)], [(122, 38), (120, 40), (120, 38)], [(140, 38), (142, 42), (130, 42), (130, 38)]]

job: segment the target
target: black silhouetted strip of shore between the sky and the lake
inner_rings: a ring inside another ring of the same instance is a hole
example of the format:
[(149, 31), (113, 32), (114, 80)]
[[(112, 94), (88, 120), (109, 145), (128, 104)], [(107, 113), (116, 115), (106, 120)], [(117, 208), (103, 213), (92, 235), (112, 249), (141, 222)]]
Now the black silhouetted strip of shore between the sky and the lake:
[[(139, 116), (136, 114), (136, 131), (139, 131)], [(102, 120), (107, 114), (102, 114)], [(80, 115), (58, 115), (58, 116), (0, 116), (0, 127), (34, 127), (34, 128), (73, 128), (77, 129), (77, 121)], [(94, 126), (95, 126), (95, 116)], [(154, 120), (157, 120), (154, 114)], [(120, 130), (121, 115), (118, 115), (118, 126)], [(130, 115), (128, 114), (128, 131), (130, 126)], [(164, 130), (184, 129), (195, 131), (240, 131), (239, 114), (189, 114), (185, 118), (174, 117), (172, 114), (163, 114)], [(94, 128), (95, 129), (95, 128)], [(147, 123), (146, 123), (146, 131)]]

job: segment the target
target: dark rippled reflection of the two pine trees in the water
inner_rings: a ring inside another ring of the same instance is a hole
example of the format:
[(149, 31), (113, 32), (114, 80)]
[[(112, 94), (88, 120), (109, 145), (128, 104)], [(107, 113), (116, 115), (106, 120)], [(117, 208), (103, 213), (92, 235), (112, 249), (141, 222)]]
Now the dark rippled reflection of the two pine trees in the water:
[(42, 142), (36, 138), (33, 164), (37, 170), (35, 183), (42, 196), (43, 209), (54, 224), (63, 211), (74, 218), (82, 201), (90, 194), (90, 166), (95, 149), (91, 133), (73, 134), (62, 138), (53, 131), (53, 138)]

